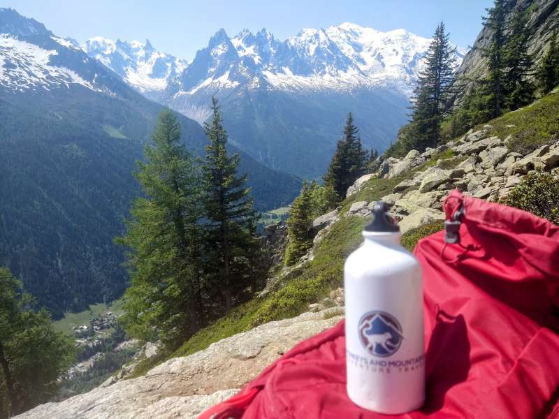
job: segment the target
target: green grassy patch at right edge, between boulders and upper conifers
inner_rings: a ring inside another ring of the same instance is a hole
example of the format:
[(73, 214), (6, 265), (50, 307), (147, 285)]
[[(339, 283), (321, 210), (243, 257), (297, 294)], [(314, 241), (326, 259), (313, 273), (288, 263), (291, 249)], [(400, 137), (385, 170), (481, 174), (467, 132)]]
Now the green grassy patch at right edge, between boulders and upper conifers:
[[(511, 135), (508, 147), (513, 152), (525, 154), (540, 145), (559, 138), (559, 92), (551, 93), (532, 105), (487, 122), (493, 126), (491, 135), (507, 138)], [(476, 126), (478, 131), (483, 125)]]

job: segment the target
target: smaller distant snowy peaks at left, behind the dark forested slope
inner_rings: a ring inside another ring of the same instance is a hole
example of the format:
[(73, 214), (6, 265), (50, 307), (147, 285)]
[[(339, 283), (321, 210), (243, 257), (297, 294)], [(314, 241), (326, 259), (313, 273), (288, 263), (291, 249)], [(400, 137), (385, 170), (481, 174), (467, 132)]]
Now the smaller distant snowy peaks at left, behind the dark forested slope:
[(88, 39), (82, 50), (90, 57), (115, 71), (122, 79), (141, 93), (156, 98), (166, 89), (171, 78), (180, 75), (187, 66), (187, 61), (173, 55), (155, 50), (149, 40), (111, 41), (110, 39)]

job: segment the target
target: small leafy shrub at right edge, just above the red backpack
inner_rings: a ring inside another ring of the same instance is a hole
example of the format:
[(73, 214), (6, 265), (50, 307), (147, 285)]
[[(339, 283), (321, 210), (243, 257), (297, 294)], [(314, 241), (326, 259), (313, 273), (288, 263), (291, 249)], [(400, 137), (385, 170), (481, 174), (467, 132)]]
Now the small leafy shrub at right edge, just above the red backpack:
[(547, 173), (530, 173), (509, 193), (504, 204), (559, 224), (558, 179)]

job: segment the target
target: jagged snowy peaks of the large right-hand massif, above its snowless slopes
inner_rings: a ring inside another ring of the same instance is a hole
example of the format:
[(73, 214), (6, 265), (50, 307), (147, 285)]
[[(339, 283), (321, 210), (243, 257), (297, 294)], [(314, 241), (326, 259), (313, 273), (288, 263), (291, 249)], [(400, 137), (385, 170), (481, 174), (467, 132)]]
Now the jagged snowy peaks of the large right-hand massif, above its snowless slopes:
[[(390, 87), (409, 96), (429, 43), (405, 29), (381, 32), (351, 23), (303, 29), (283, 42), (266, 29), (256, 34), (245, 29), (233, 38), (221, 29), (196, 54), (173, 94), (265, 82), (282, 90)], [(458, 48), (456, 66), (462, 58)]]

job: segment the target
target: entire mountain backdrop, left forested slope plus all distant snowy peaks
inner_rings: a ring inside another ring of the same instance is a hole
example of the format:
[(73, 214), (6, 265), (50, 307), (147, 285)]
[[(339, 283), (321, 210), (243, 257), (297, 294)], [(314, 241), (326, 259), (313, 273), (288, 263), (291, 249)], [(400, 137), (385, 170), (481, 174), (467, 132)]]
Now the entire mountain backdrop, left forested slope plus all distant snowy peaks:
[(55, 317), (118, 297), (127, 277), (112, 238), (140, 193), (132, 172), (164, 105), (201, 155), (199, 122), (219, 98), (229, 151), (268, 210), (291, 203), (300, 177), (324, 173), (347, 112), (365, 145), (389, 144), (427, 45), (353, 24), (286, 41), (219, 30), (187, 63), (149, 41), (78, 45), (0, 8), (0, 265)]

